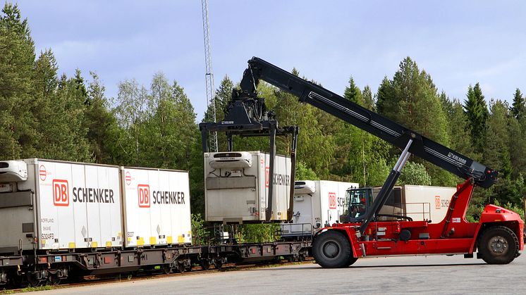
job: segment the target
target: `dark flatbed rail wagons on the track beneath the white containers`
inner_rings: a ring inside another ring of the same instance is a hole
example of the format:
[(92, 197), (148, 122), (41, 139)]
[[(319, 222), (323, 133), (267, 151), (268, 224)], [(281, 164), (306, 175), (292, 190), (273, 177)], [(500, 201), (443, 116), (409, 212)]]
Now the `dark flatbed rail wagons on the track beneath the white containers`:
[(196, 267), (221, 270), (226, 263), (304, 261), (311, 242), (276, 241), (255, 244), (211, 244), (135, 249), (47, 251), (0, 256), (0, 287), (59, 284), (71, 277), (136, 274), (137, 272), (187, 272)]

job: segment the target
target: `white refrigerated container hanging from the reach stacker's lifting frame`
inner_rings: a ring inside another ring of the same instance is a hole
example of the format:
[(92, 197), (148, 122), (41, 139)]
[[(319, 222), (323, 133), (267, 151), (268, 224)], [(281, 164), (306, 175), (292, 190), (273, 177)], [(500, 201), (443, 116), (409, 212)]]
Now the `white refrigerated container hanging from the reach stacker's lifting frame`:
[[(276, 155), (269, 175), (270, 155), (262, 151), (204, 153), (204, 206), (209, 222), (262, 222), (287, 219), (290, 158)], [(272, 203), (269, 182), (273, 182)]]

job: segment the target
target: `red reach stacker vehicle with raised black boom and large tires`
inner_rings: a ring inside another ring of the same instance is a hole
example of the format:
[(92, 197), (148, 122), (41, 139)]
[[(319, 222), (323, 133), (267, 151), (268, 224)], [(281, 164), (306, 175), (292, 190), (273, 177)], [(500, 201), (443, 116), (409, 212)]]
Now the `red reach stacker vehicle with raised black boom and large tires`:
[[(233, 92), (226, 118), (221, 122), (227, 133), (228, 125), (238, 122), (240, 115), (246, 117), (247, 128), (257, 126), (261, 118), (273, 118), (273, 114), (266, 111), (264, 99), (257, 96), (259, 80), (290, 92), (298, 96), (300, 102), (310, 103), (402, 150), (372, 205), (362, 204), (370, 193), (367, 189), (351, 192), (340, 222), (314, 237), (312, 253), (319, 265), (342, 268), (366, 256), (464, 254), (465, 258), (472, 258), (475, 251), (477, 258), (487, 263), (506, 264), (520, 255), (524, 248), (524, 222), (517, 213), (488, 205), (479, 222), (465, 219), (474, 187), (491, 187), (498, 172), (260, 58), (248, 61), (240, 90)], [(237, 125), (238, 130), (243, 130), (243, 126)], [(448, 213), (439, 223), (380, 214), (411, 154), (465, 179), (458, 185)]]

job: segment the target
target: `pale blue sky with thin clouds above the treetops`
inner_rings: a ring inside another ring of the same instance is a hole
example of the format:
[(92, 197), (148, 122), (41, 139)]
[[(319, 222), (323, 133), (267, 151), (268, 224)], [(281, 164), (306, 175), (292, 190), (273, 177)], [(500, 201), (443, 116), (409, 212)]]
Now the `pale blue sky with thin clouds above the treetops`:
[[(201, 120), (207, 106), (201, 1), (23, 0), (37, 54), (59, 73), (99, 75), (106, 96), (162, 72), (184, 87)], [(479, 82), (487, 100), (526, 92), (526, 1), (209, 0), (214, 84), (239, 82), (252, 56), (343, 94), (377, 91), (410, 56), (439, 91), (465, 99)]]

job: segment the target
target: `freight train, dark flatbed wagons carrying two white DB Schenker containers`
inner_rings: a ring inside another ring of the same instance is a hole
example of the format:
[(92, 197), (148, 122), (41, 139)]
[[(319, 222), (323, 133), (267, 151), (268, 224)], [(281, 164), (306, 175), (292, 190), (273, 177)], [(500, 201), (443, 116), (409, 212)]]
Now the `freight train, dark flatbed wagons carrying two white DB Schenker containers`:
[(0, 161), (0, 225), (4, 286), (302, 260), (310, 249), (309, 239), (237, 244), (221, 227), (196, 242), (187, 171), (37, 158)]

